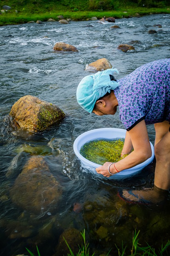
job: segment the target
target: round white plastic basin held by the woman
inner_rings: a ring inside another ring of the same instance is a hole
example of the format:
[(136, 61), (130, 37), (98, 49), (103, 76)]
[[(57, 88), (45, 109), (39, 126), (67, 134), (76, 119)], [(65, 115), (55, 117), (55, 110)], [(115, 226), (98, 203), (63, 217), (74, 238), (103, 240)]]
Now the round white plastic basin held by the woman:
[[(84, 158), (80, 154), (80, 148), (91, 140), (125, 138), (125, 134), (126, 134), (126, 130), (119, 129), (119, 128), (99, 128), (99, 129), (90, 130), (88, 132), (84, 132), (80, 136), (78, 136), (74, 141), (74, 144), (73, 144), (74, 153), (80, 159), (80, 161), (82, 162), (82, 165), (85, 168), (92, 171), (96, 175), (103, 176), (102, 174), (98, 174), (95, 170), (97, 167), (100, 166), (100, 164), (96, 164)], [(147, 166), (150, 162), (152, 162), (152, 160), (154, 159), (154, 146), (152, 145), (151, 142), (150, 142), (150, 146), (152, 150), (152, 156), (149, 159), (132, 168), (123, 170), (113, 176), (110, 176), (109, 179), (126, 178), (130, 175), (136, 174), (137, 172), (142, 170), (145, 166)]]

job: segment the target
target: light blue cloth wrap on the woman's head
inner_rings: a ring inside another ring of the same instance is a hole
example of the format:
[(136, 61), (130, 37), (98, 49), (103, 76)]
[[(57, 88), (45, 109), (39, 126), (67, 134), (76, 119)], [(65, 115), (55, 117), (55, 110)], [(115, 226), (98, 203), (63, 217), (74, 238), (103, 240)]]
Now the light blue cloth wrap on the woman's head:
[(78, 104), (89, 113), (92, 113), (96, 100), (103, 97), (110, 90), (114, 90), (119, 84), (111, 81), (109, 75), (118, 72), (116, 68), (98, 71), (96, 74), (85, 76), (78, 84), (76, 97)]

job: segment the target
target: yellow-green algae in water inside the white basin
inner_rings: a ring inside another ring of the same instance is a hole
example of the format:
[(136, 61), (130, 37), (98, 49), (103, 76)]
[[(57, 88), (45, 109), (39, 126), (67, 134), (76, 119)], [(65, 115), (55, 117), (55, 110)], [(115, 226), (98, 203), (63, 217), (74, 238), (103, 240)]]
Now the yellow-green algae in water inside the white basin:
[(124, 140), (92, 140), (80, 148), (80, 154), (96, 164), (121, 160)]

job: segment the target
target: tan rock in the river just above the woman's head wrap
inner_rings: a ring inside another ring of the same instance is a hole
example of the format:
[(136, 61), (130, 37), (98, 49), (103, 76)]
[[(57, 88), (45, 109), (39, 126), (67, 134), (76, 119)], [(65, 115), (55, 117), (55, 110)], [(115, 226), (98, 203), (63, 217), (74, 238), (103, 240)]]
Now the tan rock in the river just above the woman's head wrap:
[(85, 70), (96, 72), (96, 71), (106, 70), (108, 68), (112, 68), (111, 63), (106, 58), (102, 58), (90, 64), (86, 64)]

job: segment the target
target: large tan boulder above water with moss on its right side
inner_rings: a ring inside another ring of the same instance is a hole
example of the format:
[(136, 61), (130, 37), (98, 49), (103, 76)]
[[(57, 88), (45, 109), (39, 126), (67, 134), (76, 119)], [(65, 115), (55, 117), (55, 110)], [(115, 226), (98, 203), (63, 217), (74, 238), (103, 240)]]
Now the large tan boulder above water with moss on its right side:
[(10, 115), (14, 116), (14, 120), (21, 128), (29, 132), (46, 130), (65, 116), (63, 110), (56, 105), (31, 95), (20, 98), (12, 106)]

